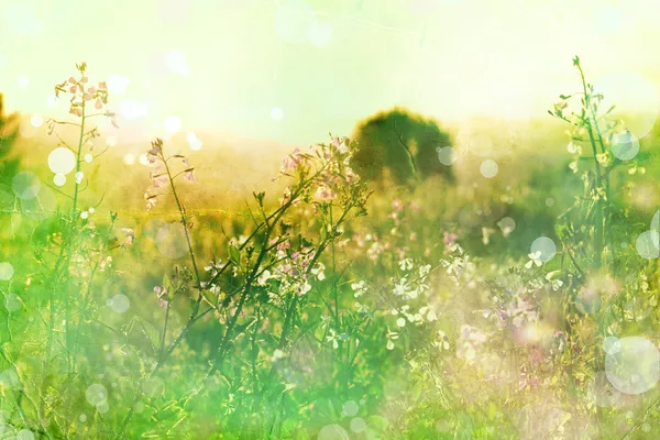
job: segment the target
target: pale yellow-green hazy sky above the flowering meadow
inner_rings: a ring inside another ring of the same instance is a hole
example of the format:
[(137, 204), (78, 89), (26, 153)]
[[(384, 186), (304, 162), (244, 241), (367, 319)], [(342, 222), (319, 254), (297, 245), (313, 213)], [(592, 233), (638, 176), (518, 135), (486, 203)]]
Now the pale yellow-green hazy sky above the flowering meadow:
[(576, 54), (647, 114), (642, 136), (660, 107), (659, 46), (657, 0), (0, 0), (7, 108), (66, 113), (53, 86), (85, 61), (109, 80), (128, 142), (308, 144), (394, 106), (441, 123), (544, 118), (579, 88)]

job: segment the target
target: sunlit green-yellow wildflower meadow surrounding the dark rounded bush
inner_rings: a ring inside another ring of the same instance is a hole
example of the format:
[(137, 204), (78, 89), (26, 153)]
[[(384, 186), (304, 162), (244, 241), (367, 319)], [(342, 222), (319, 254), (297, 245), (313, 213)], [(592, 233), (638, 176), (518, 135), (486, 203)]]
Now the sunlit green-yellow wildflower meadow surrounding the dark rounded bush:
[(0, 439), (658, 438), (660, 124), (578, 57), (398, 185), (343, 133), (114, 146), (76, 67), (70, 119), (0, 127)]

